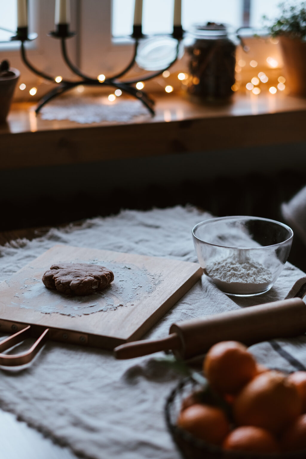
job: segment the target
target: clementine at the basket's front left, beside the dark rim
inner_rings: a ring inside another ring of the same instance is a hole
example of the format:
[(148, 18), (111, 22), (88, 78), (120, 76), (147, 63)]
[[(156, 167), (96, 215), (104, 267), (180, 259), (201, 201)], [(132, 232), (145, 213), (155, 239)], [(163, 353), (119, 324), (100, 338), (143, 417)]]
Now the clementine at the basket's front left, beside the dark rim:
[(220, 445), (229, 431), (224, 412), (209, 405), (189, 406), (179, 414), (177, 424), (194, 437), (214, 445)]

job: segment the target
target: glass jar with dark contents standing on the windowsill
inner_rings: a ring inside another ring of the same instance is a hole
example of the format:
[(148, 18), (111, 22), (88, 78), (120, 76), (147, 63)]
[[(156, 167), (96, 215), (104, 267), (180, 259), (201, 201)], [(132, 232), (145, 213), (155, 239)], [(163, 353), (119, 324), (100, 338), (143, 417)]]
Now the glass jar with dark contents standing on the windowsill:
[(235, 83), (238, 37), (228, 25), (196, 24), (187, 34), (187, 91), (203, 101), (227, 101)]

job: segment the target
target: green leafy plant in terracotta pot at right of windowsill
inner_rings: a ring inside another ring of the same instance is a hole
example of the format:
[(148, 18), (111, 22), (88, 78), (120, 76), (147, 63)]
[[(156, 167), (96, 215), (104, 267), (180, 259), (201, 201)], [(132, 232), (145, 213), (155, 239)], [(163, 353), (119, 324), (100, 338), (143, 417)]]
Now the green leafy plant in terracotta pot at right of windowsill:
[(306, 96), (306, 2), (279, 7), (281, 14), (269, 30), (279, 39), (291, 93)]

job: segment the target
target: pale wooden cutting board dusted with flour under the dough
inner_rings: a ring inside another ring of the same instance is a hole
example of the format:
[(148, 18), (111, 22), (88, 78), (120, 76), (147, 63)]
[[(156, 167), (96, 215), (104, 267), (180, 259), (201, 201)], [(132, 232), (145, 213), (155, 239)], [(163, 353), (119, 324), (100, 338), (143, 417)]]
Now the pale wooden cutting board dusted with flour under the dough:
[[(66, 297), (41, 280), (61, 262), (106, 266), (114, 281), (103, 292)], [(50, 328), (50, 339), (112, 349), (143, 336), (202, 272), (197, 263), (56, 245), (0, 284), (0, 330), (27, 324), (37, 336)]]

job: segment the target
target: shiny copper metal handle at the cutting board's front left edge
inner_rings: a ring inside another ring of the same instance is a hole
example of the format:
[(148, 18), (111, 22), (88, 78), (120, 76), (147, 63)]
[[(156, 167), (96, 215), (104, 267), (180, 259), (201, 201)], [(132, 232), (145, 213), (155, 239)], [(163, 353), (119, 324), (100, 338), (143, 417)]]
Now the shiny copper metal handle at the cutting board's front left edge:
[(25, 365), (31, 362), (31, 360), (35, 357), (38, 353), (39, 349), (43, 347), (45, 342), (48, 339), (49, 328), (39, 336), (39, 338), (34, 342), (33, 346), (27, 352), (14, 354), (14, 355), (7, 355), (2, 354), (3, 351), (10, 349), (16, 344), (22, 342), (23, 340), (30, 338), (31, 336), (31, 326), (28, 325), (27, 327), (23, 328), (20, 331), (17, 331), (15, 335), (11, 335), (5, 340), (0, 342), (0, 365), (6, 367), (15, 367), (17, 365)]

